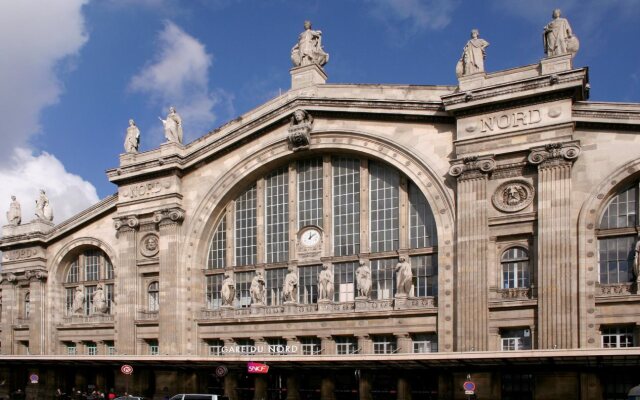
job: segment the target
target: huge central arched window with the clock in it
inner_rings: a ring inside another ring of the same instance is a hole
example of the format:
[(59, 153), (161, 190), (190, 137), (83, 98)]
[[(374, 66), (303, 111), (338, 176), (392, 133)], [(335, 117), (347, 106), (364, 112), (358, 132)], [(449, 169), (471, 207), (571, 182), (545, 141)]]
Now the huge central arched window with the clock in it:
[[(304, 245), (303, 233), (308, 235)], [(314, 241), (316, 235), (323, 240)], [(264, 269), (267, 305), (280, 304), (289, 262), (305, 251), (323, 254), (323, 262), (331, 264), (335, 302), (358, 296), (360, 258), (369, 260), (371, 297), (392, 298), (398, 251), (410, 253), (411, 295), (437, 295), (435, 219), (419, 188), (386, 163), (325, 155), (268, 171), (226, 205), (209, 245), (207, 308), (222, 305), (223, 273), (229, 269), (235, 270), (236, 307), (250, 305), (257, 268)], [(319, 258), (298, 263), (299, 303), (318, 300)]]

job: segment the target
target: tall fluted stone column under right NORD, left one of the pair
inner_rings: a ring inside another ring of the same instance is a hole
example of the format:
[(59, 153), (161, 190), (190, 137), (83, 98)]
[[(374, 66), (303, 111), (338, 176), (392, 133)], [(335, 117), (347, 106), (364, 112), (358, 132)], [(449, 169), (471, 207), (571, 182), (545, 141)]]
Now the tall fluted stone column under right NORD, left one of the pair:
[(457, 351), (487, 350), (487, 175), (495, 166), (493, 156), (474, 156), (454, 161), (449, 170), (449, 174), (458, 179)]

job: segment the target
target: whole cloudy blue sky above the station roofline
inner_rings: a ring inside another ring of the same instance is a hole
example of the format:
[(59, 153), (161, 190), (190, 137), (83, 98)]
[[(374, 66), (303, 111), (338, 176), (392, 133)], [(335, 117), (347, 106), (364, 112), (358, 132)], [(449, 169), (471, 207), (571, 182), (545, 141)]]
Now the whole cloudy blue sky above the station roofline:
[(144, 151), (170, 105), (190, 142), (286, 91), (305, 19), (323, 32), (328, 82), (453, 85), (472, 28), (491, 44), (488, 72), (536, 63), (556, 7), (591, 100), (640, 102), (640, 0), (6, 1), (0, 214), (15, 194), (30, 221), (41, 187), (55, 222), (114, 193), (104, 171), (129, 118)]

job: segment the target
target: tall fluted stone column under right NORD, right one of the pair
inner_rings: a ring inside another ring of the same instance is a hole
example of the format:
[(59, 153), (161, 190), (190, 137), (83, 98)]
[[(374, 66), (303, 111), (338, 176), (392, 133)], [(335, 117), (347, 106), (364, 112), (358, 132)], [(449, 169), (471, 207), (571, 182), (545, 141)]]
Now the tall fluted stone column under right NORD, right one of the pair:
[(578, 346), (576, 232), (571, 218), (571, 167), (578, 142), (534, 147), (538, 166), (538, 344), (540, 349)]

